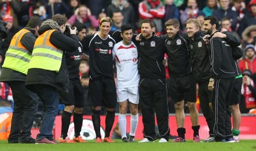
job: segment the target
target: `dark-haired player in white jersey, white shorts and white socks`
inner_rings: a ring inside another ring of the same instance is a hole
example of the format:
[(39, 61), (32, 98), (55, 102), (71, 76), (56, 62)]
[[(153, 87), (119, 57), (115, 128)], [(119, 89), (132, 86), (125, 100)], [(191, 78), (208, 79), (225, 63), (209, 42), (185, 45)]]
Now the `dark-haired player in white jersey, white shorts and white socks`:
[[(113, 48), (113, 59), (116, 59), (117, 67), (117, 101), (119, 102), (119, 126), (123, 142), (134, 142), (135, 131), (138, 125), (138, 103), (139, 103), (139, 73), (138, 73), (138, 51), (132, 42), (132, 26), (129, 24), (121, 27), (123, 40), (115, 44)], [(130, 133), (126, 135), (126, 113), (129, 101)]]

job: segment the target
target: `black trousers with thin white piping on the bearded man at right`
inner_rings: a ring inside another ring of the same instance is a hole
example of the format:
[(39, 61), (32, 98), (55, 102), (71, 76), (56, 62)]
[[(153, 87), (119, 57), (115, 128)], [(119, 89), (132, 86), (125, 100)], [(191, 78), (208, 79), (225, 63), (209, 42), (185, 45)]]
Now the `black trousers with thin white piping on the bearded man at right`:
[(232, 137), (230, 101), (234, 79), (217, 79), (214, 84), (215, 141)]

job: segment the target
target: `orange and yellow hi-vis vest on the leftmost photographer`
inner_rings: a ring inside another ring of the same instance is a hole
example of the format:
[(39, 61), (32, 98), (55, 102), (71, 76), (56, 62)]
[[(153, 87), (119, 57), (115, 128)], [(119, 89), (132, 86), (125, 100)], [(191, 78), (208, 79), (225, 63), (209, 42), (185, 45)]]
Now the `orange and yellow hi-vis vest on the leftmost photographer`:
[(28, 32), (30, 31), (22, 29), (13, 36), (2, 67), (13, 69), (24, 74), (28, 73), (31, 53), (20, 43), (20, 39)]

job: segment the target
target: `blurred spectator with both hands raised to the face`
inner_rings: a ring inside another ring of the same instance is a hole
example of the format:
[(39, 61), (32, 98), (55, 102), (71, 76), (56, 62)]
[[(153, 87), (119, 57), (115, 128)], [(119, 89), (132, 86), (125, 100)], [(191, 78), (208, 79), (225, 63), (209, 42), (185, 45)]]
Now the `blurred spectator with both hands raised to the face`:
[(83, 4), (79, 5), (79, 8), (75, 10), (75, 14), (68, 19), (71, 25), (76, 21), (83, 23), (87, 28), (97, 28), (99, 26), (99, 22), (97, 22), (95, 16), (91, 15), (91, 10)]

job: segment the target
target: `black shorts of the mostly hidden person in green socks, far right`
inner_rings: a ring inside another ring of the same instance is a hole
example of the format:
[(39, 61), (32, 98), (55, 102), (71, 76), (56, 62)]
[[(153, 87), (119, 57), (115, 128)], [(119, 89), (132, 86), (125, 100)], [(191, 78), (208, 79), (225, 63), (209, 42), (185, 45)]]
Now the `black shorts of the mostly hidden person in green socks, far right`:
[(235, 105), (240, 103), (242, 83), (243, 83), (243, 78), (237, 78), (234, 80), (234, 88), (232, 90), (230, 105)]

